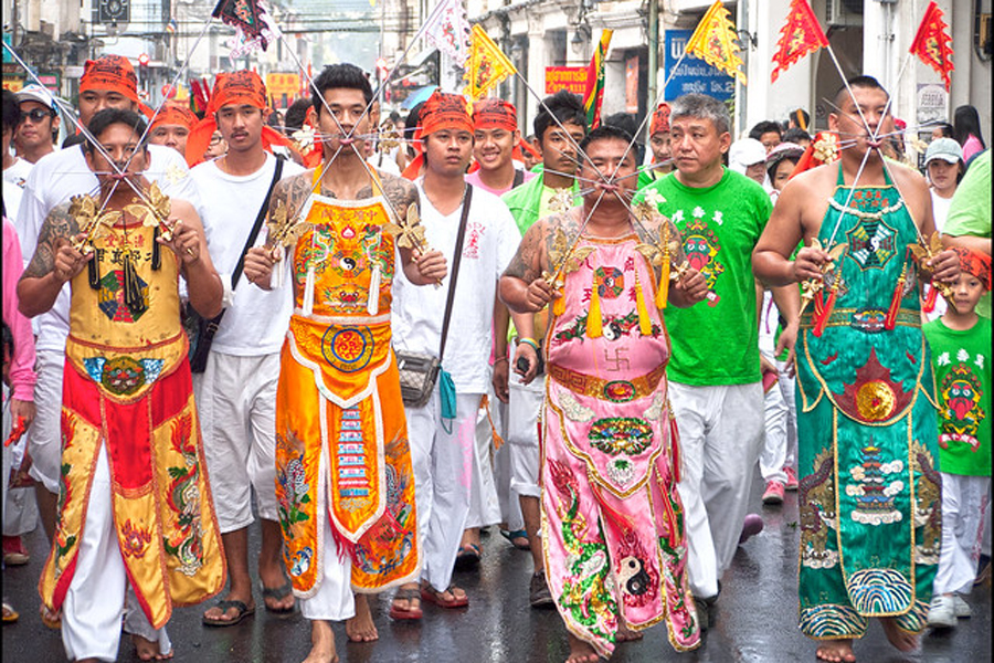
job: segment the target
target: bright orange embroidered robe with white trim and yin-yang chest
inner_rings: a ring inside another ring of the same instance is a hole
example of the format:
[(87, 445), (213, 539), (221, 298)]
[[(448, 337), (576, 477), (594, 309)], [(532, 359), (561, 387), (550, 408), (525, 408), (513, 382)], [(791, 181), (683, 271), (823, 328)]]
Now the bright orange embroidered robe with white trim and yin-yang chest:
[[(351, 555), (352, 588), (381, 591), (420, 573), (414, 475), (390, 347), (394, 246), (382, 231), (389, 212), (379, 197), (314, 196), (302, 215), (311, 229), (294, 250), (297, 307), (276, 394), (286, 567), (295, 593), (314, 596), (327, 554), (321, 518), (330, 518), (341, 554)], [(310, 269), (314, 305), (305, 315)]]

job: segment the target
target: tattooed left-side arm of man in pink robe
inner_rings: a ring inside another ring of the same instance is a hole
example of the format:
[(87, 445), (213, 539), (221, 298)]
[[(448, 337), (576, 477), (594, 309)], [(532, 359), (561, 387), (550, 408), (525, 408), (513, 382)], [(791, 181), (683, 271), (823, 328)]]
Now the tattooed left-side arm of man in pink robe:
[(553, 218), (536, 222), (518, 245), (507, 270), (500, 277), (498, 294), (511, 313), (536, 313), (553, 297), (552, 286), (542, 278), (548, 265), (549, 225)]

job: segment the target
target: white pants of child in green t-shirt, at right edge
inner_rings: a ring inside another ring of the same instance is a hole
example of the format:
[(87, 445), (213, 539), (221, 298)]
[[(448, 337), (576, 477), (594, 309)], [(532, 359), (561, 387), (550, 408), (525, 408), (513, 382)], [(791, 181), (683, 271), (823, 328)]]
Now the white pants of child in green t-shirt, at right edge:
[(941, 474), (942, 552), (932, 591), (970, 593), (981, 552), (991, 477)]

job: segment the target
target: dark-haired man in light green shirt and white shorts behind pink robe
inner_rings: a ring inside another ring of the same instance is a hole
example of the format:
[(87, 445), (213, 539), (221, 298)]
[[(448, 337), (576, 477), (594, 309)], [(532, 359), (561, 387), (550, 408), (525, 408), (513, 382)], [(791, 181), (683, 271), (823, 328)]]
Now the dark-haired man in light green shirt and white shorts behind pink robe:
[[(531, 225), (553, 210), (552, 200), (557, 193), (572, 189), (572, 204), (580, 203), (579, 186), (575, 172), (583, 158), (579, 145), (586, 135), (586, 113), (583, 101), (575, 94), (561, 90), (542, 101), (542, 107), (535, 118), (537, 147), (542, 154), (542, 171), (531, 181), (511, 189), (500, 199), (507, 203), (511, 215), (524, 235)], [(506, 309), (505, 309), (506, 313)], [(515, 315), (517, 343), (541, 343), (546, 333), (547, 313), (535, 316)], [(496, 319), (497, 337), (506, 337), (507, 315)], [(527, 340), (522, 340), (527, 339)], [(499, 350), (498, 340), (498, 350)], [(498, 354), (506, 357), (506, 354)], [(517, 358), (517, 357), (515, 357)], [(504, 373), (507, 376), (507, 373)], [(531, 547), (535, 571), (529, 589), (529, 602), (533, 608), (552, 604), (552, 596), (546, 585), (542, 544), (538, 536), (540, 522), (538, 486), (539, 445), (537, 421), (542, 406), (544, 379), (531, 379), (524, 383), (518, 377), (507, 380), (508, 429), (507, 441), (510, 445), (511, 491), (518, 494), (521, 504), (521, 516), (525, 530)], [(496, 388), (496, 387), (495, 387)], [(497, 390), (498, 397), (500, 390)]]

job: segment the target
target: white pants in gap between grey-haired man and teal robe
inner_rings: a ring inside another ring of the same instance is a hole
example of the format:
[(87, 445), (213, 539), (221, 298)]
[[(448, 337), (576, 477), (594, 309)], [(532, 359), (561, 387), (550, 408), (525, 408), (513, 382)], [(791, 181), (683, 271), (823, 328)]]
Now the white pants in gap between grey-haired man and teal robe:
[(763, 481), (786, 483), (785, 466), (793, 466), (797, 449), (797, 417), (794, 410), (794, 378), (786, 375), (786, 361), (773, 359), (780, 377), (763, 397), (763, 449), (760, 474)]

